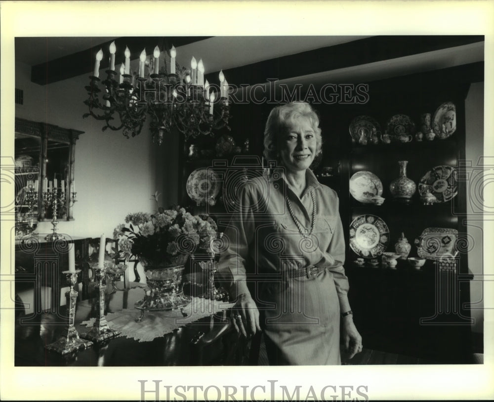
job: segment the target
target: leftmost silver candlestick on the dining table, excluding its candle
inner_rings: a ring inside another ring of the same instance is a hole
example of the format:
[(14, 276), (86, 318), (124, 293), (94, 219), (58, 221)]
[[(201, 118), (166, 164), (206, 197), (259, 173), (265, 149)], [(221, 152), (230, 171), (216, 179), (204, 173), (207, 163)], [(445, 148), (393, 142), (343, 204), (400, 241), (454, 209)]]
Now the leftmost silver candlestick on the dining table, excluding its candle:
[(80, 269), (76, 269), (74, 272), (62, 272), (67, 278), (67, 284), (70, 286), (70, 290), (65, 293), (65, 297), (67, 298), (67, 312), (69, 313), (69, 321), (62, 332), (62, 336), (57, 341), (45, 346), (46, 349), (60, 353), (61, 355), (66, 355), (79, 349), (86, 349), (89, 346), (92, 346), (91, 341), (84, 340), (79, 337), (79, 332), (74, 326), (78, 295), (78, 292), (74, 290), (74, 285), (77, 283), (77, 276), (79, 275), (79, 272), (81, 272)]

